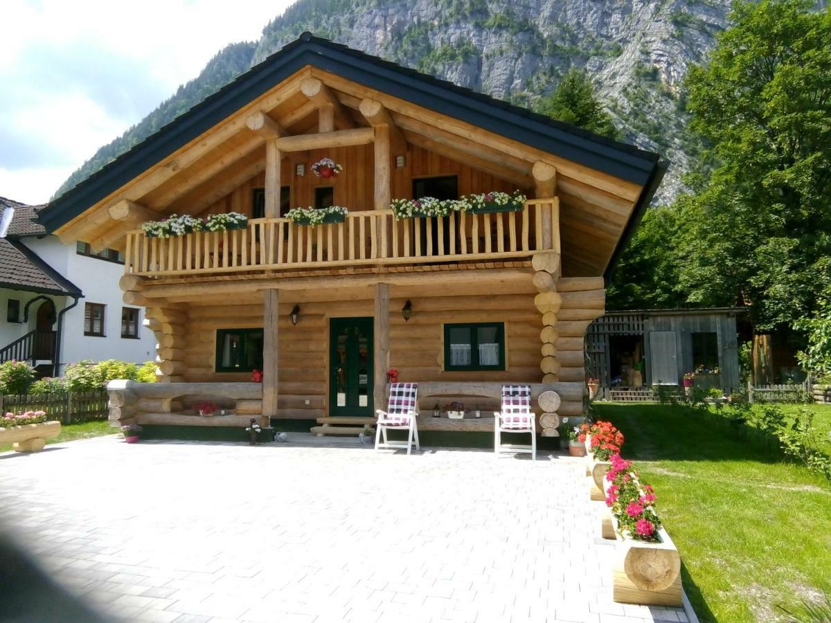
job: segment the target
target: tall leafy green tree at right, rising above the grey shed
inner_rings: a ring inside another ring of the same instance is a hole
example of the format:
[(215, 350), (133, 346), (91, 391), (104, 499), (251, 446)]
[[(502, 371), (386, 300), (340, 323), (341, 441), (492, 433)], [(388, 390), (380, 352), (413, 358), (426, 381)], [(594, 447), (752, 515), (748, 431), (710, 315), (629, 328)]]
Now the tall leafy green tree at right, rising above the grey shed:
[(715, 168), (683, 200), (678, 287), (690, 302), (745, 302), (764, 330), (814, 311), (831, 255), (831, 9), (811, 9), (738, 3), (686, 79)]

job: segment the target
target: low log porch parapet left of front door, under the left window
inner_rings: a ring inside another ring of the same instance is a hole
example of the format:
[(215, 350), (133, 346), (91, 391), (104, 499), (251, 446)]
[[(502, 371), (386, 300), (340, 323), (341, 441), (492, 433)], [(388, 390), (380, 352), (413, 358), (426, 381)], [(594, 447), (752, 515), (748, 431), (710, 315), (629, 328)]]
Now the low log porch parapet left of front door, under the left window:
[[(245, 428), (252, 417), (263, 417), (263, 385), (260, 383), (136, 383), (112, 380), (110, 425), (151, 424), (172, 426), (232, 426)], [(191, 405), (211, 400), (227, 415), (199, 415)]]

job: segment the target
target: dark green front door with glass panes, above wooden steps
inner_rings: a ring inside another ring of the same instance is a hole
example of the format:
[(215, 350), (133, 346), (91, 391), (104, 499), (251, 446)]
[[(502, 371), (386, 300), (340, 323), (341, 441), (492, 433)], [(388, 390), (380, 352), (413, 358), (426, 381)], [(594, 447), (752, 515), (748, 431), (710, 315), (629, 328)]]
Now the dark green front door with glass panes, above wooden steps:
[(372, 319), (329, 324), (329, 415), (372, 415)]

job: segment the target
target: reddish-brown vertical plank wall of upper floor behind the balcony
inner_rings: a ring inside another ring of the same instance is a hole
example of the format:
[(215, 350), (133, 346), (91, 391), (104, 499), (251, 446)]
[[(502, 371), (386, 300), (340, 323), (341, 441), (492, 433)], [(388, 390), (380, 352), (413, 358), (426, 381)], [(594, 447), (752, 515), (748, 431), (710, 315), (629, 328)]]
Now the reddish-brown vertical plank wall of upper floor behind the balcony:
[[(318, 178), (317, 175), (312, 173), (312, 164), (326, 156), (343, 165), (342, 174), (335, 179)], [(432, 175), (457, 175), (460, 195), (484, 193), (489, 190), (502, 190), (511, 193), (517, 190), (516, 184), (415, 145), (410, 145), (405, 155), (406, 165), (402, 168), (395, 166), (396, 154), (391, 156), (393, 162), (390, 169), (390, 184), (393, 199), (411, 199), (412, 180)], [(303, 155), (305, 173), (302, 176), (298, 176), (296, 173), (297, 163), (292, 159), (284, 158), (280, 179), (283, 186), (290, 186), (290, 207), (305, 208), (313, 205), (315, 189), (332, 186), (335, 205), (345, 206), (350, 211), (371, 210), (374, 204), (373, 158), (372, 145), (339, 147), (331, 150), (310, 150)], [(218, 179), (218, 182), (221, 182), (221, 180)], [(257, 174), (210, 205), (209, 208), (204, 210), (202, 216), (230, 211), (251, 216), (253, 189), (263, 188), (264, 186), (265, 173)]]

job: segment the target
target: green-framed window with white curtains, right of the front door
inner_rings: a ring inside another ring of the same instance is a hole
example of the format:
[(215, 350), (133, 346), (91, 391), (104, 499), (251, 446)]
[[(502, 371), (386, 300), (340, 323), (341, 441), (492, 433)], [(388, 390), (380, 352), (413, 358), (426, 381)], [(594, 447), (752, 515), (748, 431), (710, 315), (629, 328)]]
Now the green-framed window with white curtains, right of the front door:
[(445, 370), (504, 369), (504, 322), (445, 325)]

